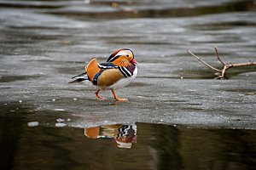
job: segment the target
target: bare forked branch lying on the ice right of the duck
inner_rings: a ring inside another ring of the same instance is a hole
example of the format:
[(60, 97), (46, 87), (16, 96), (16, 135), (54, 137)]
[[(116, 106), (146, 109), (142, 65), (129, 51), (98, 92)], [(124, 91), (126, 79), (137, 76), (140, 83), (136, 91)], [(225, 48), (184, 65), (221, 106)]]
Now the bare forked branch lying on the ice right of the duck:
[(220, 62), (222, 65), (224, 65), (223, 69), (221, 69), (221, 70), (218, 70), (217, 68), (213, 67), (212, 65), (207, 64), (206, 61), (204, 61), (204, 60), (201, 59), (199, 56), (197, 56), (197, 55), (195, 55), (194, 53), (192, 53), (191, 51), (189, 51), (189, 49), (187, 49), (187, 52), (188, 52), (189, 54), (191, 54), (192, 56), (194, 56), (196, 59), (198, 59), (202, 64), (207, 65), (207, 67), (211, 68), (211, 69), (214, 70), (214, 71), (220, 72), (221, 75), (218, 75), (217, 78), (221, 78), (221, 79), (224, 78), (225, 72), (226, 72), (227, 70), (229, 70), (230, 68), (232, 68), (232, 67), (256, 65), (256, 63), (253, 62), (253, 61), (250, 61), (250, 62), (247, 62), (247, 63), (226, 64), (226, 63), (224, 63), (224, 61), (223, 61), (222, 59), (220, 59), (220, 57), (219, 57), (219, 55), (218, 55), (218, 48), (217, 48), (217, 47), (214, 47), (214, 49), (215, 49), (215, 52), (216, 52), (216, 55), (217, 55), (217, 59), (219, 60), (219, 62)]

